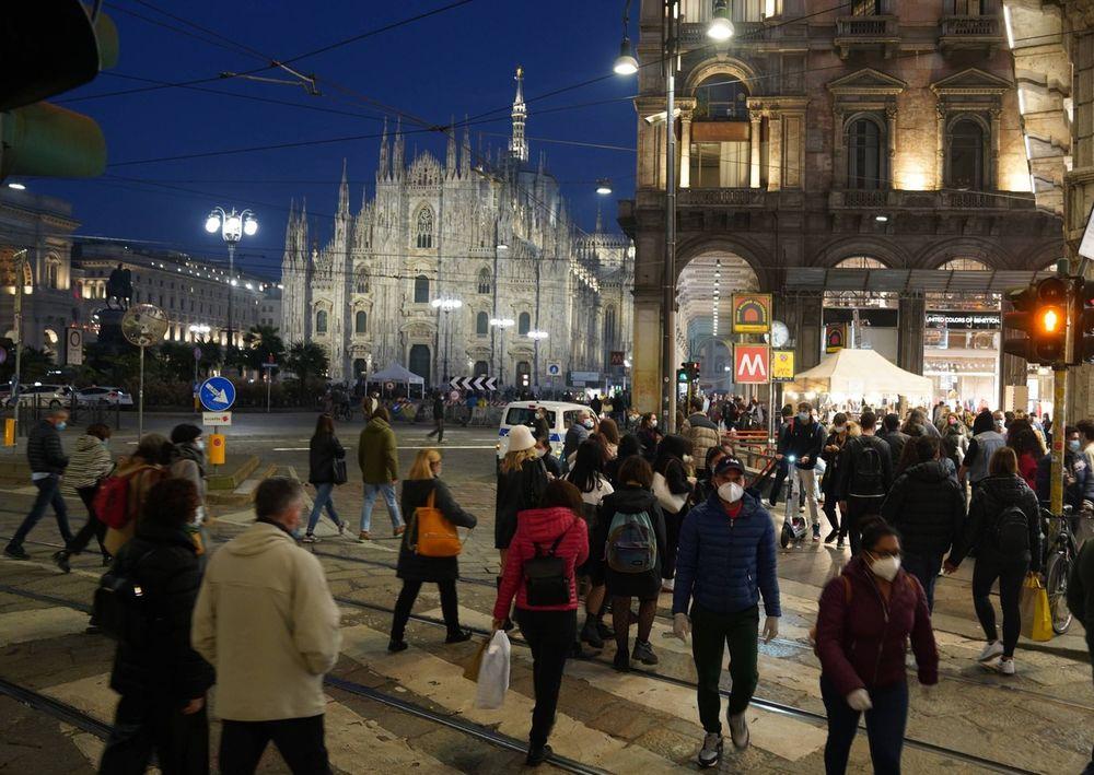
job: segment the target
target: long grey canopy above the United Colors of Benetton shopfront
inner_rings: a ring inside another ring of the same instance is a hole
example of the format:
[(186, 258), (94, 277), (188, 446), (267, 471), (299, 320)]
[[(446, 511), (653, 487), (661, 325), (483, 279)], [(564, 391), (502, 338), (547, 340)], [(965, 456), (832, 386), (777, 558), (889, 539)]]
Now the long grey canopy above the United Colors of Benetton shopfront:
[(824, 292), (897, 293), (921, 295), (948, 293), (978, 295), (1003, 293), (1049, 277), (1048, 271), (1027, 269), (828, 269), (793, 267), (787, 269), (783, 292), (816, 294)]

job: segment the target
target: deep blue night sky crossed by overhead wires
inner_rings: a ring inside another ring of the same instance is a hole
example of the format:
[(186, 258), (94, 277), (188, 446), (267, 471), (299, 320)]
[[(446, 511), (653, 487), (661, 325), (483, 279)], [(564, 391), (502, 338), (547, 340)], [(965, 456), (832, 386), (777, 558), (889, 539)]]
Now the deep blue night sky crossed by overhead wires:
[[(472, 127), (472, 145), (477, 148), (481, 133), (484, 149), (487, 143), (504, 148), (515, 85), (513, 70), (520, 63), (525, 69), (529, 157), (535, 161), (539, 151), (546, 151), (548, 168), (562, 183), (581, 227), (592, 230), (597, 204), (603, 203), (605, 223), (616, 228), (615, 199), (631, 196), (635, 181), (635, 154), (629, 150), (635, 144), (635, 110), (628, 97), (637, 82), (635, 77), (612, 73), (621, 34), (622, 0), (472, 0), (293, 62), (298, 70), (315, 74), (322, 96), (310, 96), (299, 85), (217, 80), (197, 85), (217, 94), (173, 87), (82, 98), (154, 85), (135, 79), (177, 83), (223, 71), (253, 70), (269, 58), (288, 60), (452, 2), (107, 2), (120, 38), (118, 66), (55, 99), (92, 116), (102, 126), (108, 145), (106, 175), (91, 180), (27, 179), (28, 190), (71, 201), (82, 223), (79, 234), (143, 242), (149, 247), (212, 259), (223, 257), (224, 247), (219, 235), (208, 235), (202, 228), (209, 210), (214, 204), (249, 207), (258, 214), (260, 231), (241, 245), (237, 266), (242, 259), (244, 271), (274, 277), (280, 267), (291, 198), (299, 202), (306, 196), (309, 214), (325, 242), (344, 157), (349, 165), (352, 211), (360, 208), (365, 186), (371, 195), (380, 140), (368, 136), (380, 134), (385, 115), (392, 128), (401, 113), (404, 129), (418, 130), (407, 134), (408, 161), (417, 144), (432, 150), (443, 163), (445, 148), (443, 134), (423, 131), (409, 116), (437, 126), (446, 125), (452, 117), (458, 122), (465, 114), (488, 114)], [(631, 20), (632, 39), (637, 39), (636, 15)], [(258, 74), (292, 78), (279, 70)], [(566, 89), (604, 75), (603, 81)], [(536, 99), (561, 89), (566, 91)], [(581, 103), (597, 104), (569, 107)], [(544, 113), (560, 107), (569, 109)], [(127, 164), (359, 136), (366, 137)], [(612, 197), (594, 192), (598, 177), (612, 178)]]

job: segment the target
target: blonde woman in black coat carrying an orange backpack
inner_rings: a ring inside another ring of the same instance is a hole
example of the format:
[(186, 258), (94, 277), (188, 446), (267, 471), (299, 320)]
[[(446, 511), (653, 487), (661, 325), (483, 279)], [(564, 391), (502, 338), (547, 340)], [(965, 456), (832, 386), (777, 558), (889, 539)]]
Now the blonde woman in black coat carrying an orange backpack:
[(387, 650), (401, 651), (407, 647), (403, 638), (410, 610), (414, 608), (421, 585), (431, 582), (441, 592), (441, 611), (449, 630), (445, 643), (463, 643), (472, 634), (459, 626), (459, 607), (456, 600), (456, 580), (459, 578), (459, 563), (455, 556), (430, 557), (419, 554), (417, 510), (432, 506), (453, 525), (473, 528), (478, 520), (456, 503), (447, 485), (441, 481), (443, 462), (437, 449), (419, 449), (410, 473), (403, 480), (403, 498), (399, 504), (407, 517), (407, 530), (399, 543), (399, 561), (395, 575), (403, 579), (403, 589), (395, 601), (392, 618), (392, 639)]

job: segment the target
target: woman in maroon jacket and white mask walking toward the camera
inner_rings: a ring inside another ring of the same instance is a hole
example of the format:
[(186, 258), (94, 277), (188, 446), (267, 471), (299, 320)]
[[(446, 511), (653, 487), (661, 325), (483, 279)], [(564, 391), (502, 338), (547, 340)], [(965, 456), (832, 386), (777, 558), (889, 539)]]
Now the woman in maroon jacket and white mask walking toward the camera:
[(841, 775), (866, 714), (875, 773), (899, 773), (908, 720), (905, 649), (908, 638), (919, 682), (939, 682), (939, 651), (927, 595), (900, 569), (900, 537), (881, 518), (862, 526), (862, 551), (821, 594), (817, 655), (821, 694), (828, 712), (825, 772)]

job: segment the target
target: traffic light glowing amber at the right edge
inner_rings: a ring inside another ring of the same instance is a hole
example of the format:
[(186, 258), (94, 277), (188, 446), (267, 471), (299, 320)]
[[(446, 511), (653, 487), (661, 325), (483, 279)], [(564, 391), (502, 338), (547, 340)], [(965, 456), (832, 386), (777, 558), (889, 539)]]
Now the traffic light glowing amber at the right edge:
[(1003, 342), (1003, 352), (1029, 363), (1063, 363), (1068, 353), (1070, 283), (1051, 277), (1006, 293), (1015, 312), (1003, 315), (1003, 327), (1025, 332), (1023, 339)]

